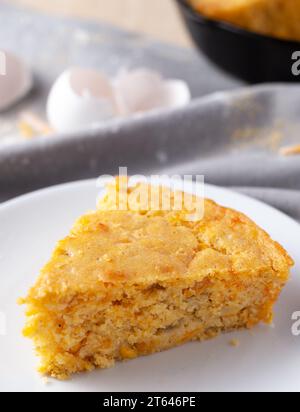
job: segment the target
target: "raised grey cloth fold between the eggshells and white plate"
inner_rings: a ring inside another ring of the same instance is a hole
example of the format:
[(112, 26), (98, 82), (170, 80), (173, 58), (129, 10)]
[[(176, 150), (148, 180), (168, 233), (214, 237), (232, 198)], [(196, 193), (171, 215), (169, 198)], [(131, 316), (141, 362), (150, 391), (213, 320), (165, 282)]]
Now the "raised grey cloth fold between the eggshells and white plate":
[(117, 174), (200, 174), (264, 200), (300, 220), (300, 87), (222, 92), (166, 112), (54, 136), (0, 153), (1, 200), (66, 181)]

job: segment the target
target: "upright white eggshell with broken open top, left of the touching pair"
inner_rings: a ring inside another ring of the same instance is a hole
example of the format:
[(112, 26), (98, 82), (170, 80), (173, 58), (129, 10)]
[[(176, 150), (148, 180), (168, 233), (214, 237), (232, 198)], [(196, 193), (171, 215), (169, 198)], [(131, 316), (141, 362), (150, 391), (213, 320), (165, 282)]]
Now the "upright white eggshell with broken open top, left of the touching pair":
[(117, 115), (113, 88), (102, 73), (74, 68), (61, 74), (47, 102), (47, 117), (58, 132), (93, 127)]

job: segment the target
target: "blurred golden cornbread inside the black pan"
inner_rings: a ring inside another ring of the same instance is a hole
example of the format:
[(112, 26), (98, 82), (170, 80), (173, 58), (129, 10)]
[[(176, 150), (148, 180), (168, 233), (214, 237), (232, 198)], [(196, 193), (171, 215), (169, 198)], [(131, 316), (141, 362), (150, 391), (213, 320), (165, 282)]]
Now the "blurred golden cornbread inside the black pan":
[(207, 17), (253, 32), (300, 40), (299, 0), (188, 0)]

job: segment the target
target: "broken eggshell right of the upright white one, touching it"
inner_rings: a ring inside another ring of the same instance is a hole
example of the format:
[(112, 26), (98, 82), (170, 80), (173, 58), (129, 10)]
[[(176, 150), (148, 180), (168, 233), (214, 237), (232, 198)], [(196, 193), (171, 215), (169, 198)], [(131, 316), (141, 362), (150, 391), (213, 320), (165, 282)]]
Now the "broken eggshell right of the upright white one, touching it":
[(148, 69), (122, 71), (116, 77), (114, 87), (119, 111), (123, 115), (178, 107), (191, 100), (185, 82), (165, 81), (159, 73)]

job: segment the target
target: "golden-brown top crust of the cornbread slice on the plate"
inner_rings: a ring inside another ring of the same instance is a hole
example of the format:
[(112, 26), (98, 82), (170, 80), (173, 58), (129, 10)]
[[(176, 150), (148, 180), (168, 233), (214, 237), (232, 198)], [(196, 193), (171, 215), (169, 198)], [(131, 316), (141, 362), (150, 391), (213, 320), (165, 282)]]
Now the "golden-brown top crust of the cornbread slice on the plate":
[(201, 279), (212, 267), (214, 273), (250, 276), (292, 264), (286, 251), (250, 219), (211, 200), (205, 200), (203, 219), (187, 222), (184, 211), (110, 211), (113, 190), (98, 211), (80, 218), (59, 242), (31, 298), (88, 293), (103, 282)]

